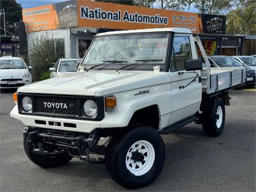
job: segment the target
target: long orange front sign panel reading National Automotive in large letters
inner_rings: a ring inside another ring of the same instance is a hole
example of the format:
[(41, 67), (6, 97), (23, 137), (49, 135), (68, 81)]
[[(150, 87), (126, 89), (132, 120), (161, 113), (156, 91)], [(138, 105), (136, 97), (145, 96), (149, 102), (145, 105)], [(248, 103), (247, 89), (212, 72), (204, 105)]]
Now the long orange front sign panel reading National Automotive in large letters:
[(77, 1), (78, 26), (108, 29), (188, 28), (202, 32), (197, 13), (159, 10), (124, 4)]

